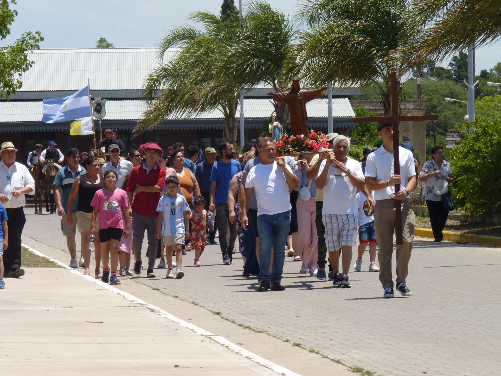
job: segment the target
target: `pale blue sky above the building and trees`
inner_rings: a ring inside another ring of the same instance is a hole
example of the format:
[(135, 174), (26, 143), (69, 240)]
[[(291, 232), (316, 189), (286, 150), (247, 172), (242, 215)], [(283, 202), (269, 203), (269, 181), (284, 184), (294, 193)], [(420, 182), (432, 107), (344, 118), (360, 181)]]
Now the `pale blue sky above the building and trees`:
[[(219, 13), (222, 0), (17, 0), (19, 12), (11, 35), (0, 46), (13, 43), (27, 30), (41, 31), (41, 48), (90, 48), (99, 37), (115, 47), (156, 47), (166, 31), (186, 24), (188, 14), (205, 10)], [(301, 1), (269, 0), (293, 19)], [(243, 1), (245, 5), (245, 1)], [(238, 0), (235, 0), (238, 7)], [(477, 49), (475, 73), (501, 61), (501, 41)], [(446, 66), (447, 58), (440, 65)]]

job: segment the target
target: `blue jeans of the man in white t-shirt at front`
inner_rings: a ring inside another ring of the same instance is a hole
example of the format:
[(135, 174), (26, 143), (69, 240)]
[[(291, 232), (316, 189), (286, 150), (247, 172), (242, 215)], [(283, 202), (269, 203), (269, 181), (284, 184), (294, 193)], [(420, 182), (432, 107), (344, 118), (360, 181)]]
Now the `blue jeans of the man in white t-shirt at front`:
[[(285, 244), (291, 226), (291, 211), (258, 216), (259, 230), (259, 278), (280, 282), (284, 270)], [(270, 260), (273, 247), (273, 272), (270, 276)]]

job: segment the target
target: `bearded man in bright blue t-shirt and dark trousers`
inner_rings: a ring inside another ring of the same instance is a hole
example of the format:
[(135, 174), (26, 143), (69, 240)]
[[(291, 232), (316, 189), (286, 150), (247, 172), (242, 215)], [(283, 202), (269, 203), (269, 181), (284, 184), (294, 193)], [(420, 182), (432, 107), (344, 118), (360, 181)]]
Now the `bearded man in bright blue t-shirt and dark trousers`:
[[(219, 154), (221, 159), (214, 163), (210, 173), (210, 206), (211, 212), (216, 212), (217, 231), (219, 231), (219, 248), (222, 253), (222, 264), (233, 262), (233, 247), (236, 240), (236, 222), (231, 223), (228, 218), (229, 182), (233, 176), (241, 171), (238, 161), (233, 159), (235, 149), (230, 142), (221, 142)], [(229, 227), (229, 242), (226, 243), (226, 233)]]

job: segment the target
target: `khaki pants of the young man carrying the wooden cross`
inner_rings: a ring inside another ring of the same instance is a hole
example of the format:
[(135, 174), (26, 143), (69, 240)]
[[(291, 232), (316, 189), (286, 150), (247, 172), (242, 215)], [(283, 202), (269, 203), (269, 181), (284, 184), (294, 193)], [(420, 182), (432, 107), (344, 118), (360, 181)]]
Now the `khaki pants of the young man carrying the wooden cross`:
[[(414, 239), (416, 220), (410, 200), (401, 201), (402, 208), (402, 245), (397, 246), (397, 279), (396, 284), (405, 282), (409, 272), (408, 265)], [(374, 227), (379, 245), (379, 280), (383, 288), (393, 288), (391, 274), (391, 256), (393, 254), (393, 233), (395, 231), (395, 200), (378, 200), (374, 209)]]

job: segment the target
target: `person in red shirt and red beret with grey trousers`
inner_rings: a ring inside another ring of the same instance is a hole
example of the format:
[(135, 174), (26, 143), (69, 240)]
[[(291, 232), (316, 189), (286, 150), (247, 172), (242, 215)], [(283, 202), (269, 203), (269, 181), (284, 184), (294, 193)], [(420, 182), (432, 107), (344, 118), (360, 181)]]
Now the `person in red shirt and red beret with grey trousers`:
[(132, 229), (134, 231), (132, 247), (134, 249), (134, 273), (141, 274), (142, 260), (141, 247), (143, 245), (144, 232), (148, 234), (148, 270), (146, 276), (154, 278), (153, 267), (157, 254), (156, 208), (160, 200), (160, 191), (165, 184), (166, 171), (156, 163), (157, 156), (163, 154), (163, 150), (153, 142), (141, 145), (146, 160), (134, 167), (127, 182), (127, 196), (132, 202)]

